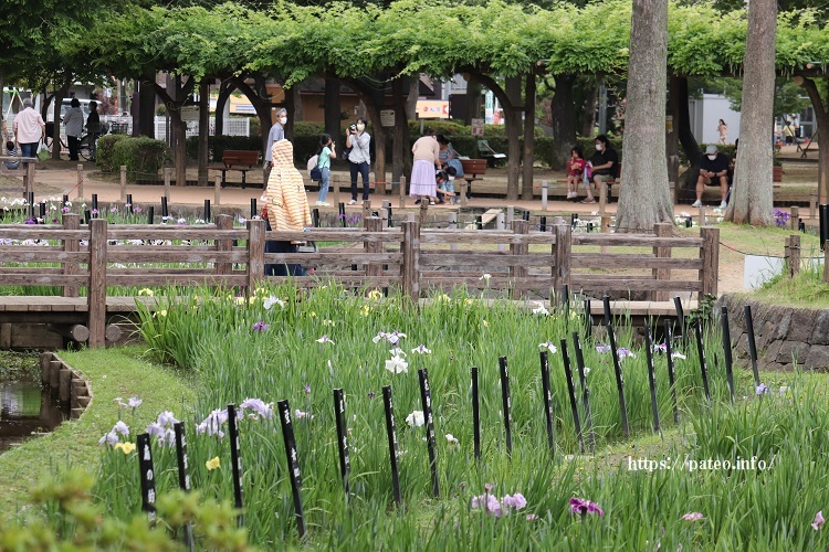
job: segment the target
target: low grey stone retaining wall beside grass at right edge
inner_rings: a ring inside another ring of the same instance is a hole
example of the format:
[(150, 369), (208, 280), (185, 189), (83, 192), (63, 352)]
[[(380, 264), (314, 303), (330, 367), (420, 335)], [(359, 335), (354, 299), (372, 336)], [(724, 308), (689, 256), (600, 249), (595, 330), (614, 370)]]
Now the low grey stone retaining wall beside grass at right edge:
[(791, 370), (795, 362), (808, 370), (829, 371), (829, 310), (767, 305), (751, 297), (724, 294), (716, 301), (728, 308), (732, 347), (748, 361), (748, 336), (743, 309), (752, 307), (757, 364), (767, 370)]

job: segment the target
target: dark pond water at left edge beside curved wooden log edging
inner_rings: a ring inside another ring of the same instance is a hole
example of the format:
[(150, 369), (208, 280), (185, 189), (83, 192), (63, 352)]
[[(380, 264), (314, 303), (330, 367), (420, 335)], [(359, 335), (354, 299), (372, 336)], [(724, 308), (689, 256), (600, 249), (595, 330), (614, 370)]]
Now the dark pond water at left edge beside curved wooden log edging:
[(0, 351), (0, 454), (69, 418), (40, 381), (36, 353)]

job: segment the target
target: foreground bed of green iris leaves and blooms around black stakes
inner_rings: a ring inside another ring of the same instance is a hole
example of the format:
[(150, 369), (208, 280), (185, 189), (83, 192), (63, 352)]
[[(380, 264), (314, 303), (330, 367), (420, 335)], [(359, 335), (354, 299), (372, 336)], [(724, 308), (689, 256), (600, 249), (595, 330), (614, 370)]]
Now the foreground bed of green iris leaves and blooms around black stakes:
[[(102, 436), (94, 495), (128, 519), (140, 510), (130, 446), (153, 435), (156, 491), (178, 487), (171, 424), (186, 424), (190, 480), (203, 496), (232, 500), (227, 405), (239, 412), (244, 527), (265, 549), (298, 545), (283, 432), (274, 403), (290, 402), (302, 471), (305, 544), (348, 550), (665, 550), (826, 548), (829, 503), (826, 396), (798, 374), (786, 390), (738, 378), (731, 404), (717, 337), (706, 331), (712, 401), (704, 399), (695, 347), (674, 343), (682, 422), (674, 429), (667, 359), (655, 348), (663, 467), (638, 461), (636, 438), (652, 434), (646, 351), (617, 336), (632, 439), (622, 439), (607, 341), (584, 341), (595, 458), (581, 456), (564, 378), (560, 339), (580, 330), (560, 316), (458, 291), (416, 307), (378, 293), (328, 286), (193, 290), (141, 310), (140, 331), (157, 360), (198, 373), (192, 403), (170, 397), (149, 427), (130, 425), (140, 397), (113, 404)], [(571, 347), (571, 341), (570, 341)], [(539, 351), (548, 353), (555, 449), (547, 445)], [(506, 355), (513, 452), (505, 446), (499, 357)], [(573, 353), (570, 353), (573, 358)], [(480, 368), (481, 459), (473, 455), (470, 368)], [(437, 434), (439, 496), (432, 481), (417, 370), (428, 369)], [(575, 369), (574, 369), (575, 370)], [(395, 507), (381, 389), (397, 418), (402, 502)], [(333, 390), (346, 395), (350, 493), (339, 471)], [(577, 392), (580, 394), (578, 380)], [(159, 390), (162, 393), (164, 390)], [(584, 408), (579, 396), (584, 425)], [(154, 416), (156, 413), (153, 414)], [(651, 437), (652, 438), (652, 437)], [(629, 445), (628, 445), (629, 443)], [(672, 443), (672, 444), (671, 444)], [(727, 460), (727, 469), (704, 459)], [(753, 458), (753, 460), (751, 460)], [(749, 459), (749, 464), (741, 463)], [(759, 465), (757, 460), (763, 460)], [(754, 464), (751, 464), (754, 461)], [(693, 468), (693, 469), (692, 469)]]

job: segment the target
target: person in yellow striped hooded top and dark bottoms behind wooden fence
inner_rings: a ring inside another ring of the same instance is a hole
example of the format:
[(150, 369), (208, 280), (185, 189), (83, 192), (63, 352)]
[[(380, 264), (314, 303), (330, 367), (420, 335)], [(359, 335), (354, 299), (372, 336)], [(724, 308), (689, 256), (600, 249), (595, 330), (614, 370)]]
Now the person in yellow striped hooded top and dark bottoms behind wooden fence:
[[(308, 197), (305, 182), (294, 167), (294, 146), (288, 140), (276, 141), (271, 149), (273, 168), (264, 193), (265, 208), (262, 217), (267, 231), (302, 232), (311, 226)], [(265, 253), (296, 253), (303, 242), (267, 241)], [(265, 276), (302, 276), (298, 264), (267, 264)]]

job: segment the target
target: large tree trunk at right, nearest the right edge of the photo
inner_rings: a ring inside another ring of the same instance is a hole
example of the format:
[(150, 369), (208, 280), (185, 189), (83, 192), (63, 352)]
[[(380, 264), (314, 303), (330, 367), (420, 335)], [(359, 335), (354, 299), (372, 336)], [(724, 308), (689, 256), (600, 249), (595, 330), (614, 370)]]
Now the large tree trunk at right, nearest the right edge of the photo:
[(775, 34), (777, 2), (753, 0), (743, 64), (743, 109), (739, 116), (739, 159), (726, 220), (737, 224), (773, 223), (773, 152), (768, 129), (774, 124)]

